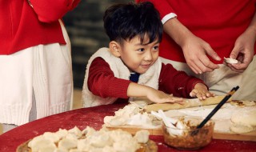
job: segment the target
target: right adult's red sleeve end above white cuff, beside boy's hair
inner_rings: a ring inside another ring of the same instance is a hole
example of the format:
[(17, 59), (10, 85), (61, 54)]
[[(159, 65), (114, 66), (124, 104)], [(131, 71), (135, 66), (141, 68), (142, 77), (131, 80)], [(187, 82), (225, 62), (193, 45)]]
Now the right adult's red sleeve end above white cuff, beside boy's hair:
[(165, 17), (166, 14), (175, 13), (166, 0), (136, 0), (136, 2), (152, 2), (154, 7), (158, 10), (161, 19)]

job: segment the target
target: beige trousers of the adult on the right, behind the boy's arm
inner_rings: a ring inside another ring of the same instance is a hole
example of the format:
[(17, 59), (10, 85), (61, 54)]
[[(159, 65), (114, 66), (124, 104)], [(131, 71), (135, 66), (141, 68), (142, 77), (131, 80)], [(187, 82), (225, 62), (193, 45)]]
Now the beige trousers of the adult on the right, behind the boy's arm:
[(220, 68), (213, 72), (194, 74), (190, 67), (183, 62), (174, 62), (161, 58), (162, 62), (170, 63), (177, 70), (183, 70), (186, 74), (201, 78), (211, 92), (217, 95), (228, 93), (234, 86), (239, 86), (238, 91), (232, 96), (234, 100), (256, 101), (256, 56), (243, 73), (234, 72), (228, 66), (220, 64)]

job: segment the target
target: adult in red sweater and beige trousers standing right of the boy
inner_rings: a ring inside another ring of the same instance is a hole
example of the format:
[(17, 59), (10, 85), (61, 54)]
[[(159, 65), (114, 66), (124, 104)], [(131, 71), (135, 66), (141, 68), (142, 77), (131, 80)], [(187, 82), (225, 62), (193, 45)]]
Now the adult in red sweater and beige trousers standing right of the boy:
[[(254, 0), (142, 1), (153, 2), (160, 12), (164, 62), (202, 78), (216, 94), (238, 85), (234, 99), (256, 100)], [(224, 57), (238, 63), (227, 64)]]

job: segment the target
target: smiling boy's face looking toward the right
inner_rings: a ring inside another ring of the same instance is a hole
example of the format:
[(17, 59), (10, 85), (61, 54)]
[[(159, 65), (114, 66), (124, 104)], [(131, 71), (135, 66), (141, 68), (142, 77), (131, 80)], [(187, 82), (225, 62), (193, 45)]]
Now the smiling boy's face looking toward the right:
[(142, 44), (139, 37), (123, 42), (119, 50), (120, 58), (131, 72), (144, 74), (158, 59), (158, 39), (148, 44), (149, 41), (146, 36)]

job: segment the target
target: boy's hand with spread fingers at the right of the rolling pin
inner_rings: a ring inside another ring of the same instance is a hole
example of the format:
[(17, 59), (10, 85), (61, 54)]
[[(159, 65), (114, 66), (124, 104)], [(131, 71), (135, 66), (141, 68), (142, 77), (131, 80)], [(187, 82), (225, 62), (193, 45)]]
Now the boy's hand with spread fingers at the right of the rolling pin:
[(190, 97), (196, 97), (199, 98), (200, 100), (204, 100), (208, 97), (214, 97), (215, 94), (211, 93), (207, 87), (202, 84), (202, 83), (198, 83), (194, 86), (194, 90), (192, 90), (190, 92)]

